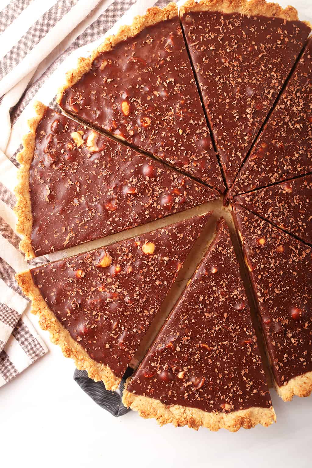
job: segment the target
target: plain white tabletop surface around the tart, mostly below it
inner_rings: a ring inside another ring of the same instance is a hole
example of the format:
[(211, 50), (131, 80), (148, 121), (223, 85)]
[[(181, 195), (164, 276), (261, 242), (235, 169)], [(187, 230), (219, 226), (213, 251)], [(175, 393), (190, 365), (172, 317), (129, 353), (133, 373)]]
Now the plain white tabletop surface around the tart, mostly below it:
[[(312, 0), (289, 2), (312, 21)], [(39, 333), (50, 352), (0, 388), (1, 468), (312, 467), (312, 397), (284, 403), (272, 390), (277, 424), (237, 433), (160, 428), (134, 412), (114, 418), (73, 381), (73, 361)]]

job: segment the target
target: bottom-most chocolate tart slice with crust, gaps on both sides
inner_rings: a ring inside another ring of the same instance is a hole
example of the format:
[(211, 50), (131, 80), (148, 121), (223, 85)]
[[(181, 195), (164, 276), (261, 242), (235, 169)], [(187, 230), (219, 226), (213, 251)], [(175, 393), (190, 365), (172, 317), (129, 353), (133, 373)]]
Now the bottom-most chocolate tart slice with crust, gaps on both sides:
[(123, 393), (159, 424), (238, 431), (275, 412), (225, 221)]

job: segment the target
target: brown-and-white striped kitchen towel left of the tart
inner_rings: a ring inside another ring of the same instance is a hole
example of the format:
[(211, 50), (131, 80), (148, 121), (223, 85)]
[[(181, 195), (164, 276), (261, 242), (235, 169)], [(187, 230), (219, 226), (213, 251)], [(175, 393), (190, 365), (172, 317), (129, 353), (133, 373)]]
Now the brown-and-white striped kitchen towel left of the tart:
[(54, 96), (65, 72), (101, 44), (105, 34), (130, 24), (167, 0), (1, 0), (0, 2), (0, 386), (47, 348), (24, 311), (28, 305), (15, 272), (65, 256), (24, 260), (13, 208), (16, 155), (28, 131), (32, 101), (58, 109)]

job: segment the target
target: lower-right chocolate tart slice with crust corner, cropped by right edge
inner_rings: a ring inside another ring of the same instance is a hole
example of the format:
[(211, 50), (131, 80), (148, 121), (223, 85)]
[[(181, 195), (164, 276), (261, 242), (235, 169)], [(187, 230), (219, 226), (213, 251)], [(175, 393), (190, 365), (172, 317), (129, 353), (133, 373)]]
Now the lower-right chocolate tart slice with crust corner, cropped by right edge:
[(277, 393), (312, 391), (312, 248), (239, 205), (242, 242)]

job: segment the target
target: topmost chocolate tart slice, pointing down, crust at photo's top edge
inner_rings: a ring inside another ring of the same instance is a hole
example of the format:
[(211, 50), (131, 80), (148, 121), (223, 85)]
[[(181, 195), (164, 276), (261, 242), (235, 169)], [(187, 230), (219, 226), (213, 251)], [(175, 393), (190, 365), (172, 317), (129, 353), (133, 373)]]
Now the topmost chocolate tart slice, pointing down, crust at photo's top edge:
[(265, 0), (189, 0), (180, 15), (230, 187), (310, 27)]

